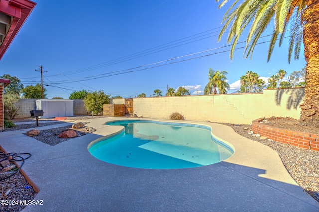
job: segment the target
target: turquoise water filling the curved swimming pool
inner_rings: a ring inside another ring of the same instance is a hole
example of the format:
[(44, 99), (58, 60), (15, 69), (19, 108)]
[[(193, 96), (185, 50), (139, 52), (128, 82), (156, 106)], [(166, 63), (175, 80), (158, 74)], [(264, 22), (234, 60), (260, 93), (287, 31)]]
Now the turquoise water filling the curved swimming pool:
[(200, 125), (154, 121), (116, 121), (120, 134), (93, 144), (99, 160), (135, 168), (176, 169), (206, 166), (230, 157), (233, 150)]

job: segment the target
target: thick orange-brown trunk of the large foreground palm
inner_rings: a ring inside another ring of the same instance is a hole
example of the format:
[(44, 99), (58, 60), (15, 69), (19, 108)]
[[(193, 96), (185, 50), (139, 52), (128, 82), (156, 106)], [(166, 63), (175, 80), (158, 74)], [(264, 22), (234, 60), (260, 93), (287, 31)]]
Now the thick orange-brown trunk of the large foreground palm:
[(300, 122), (319, 127), (319, 1), (305, 2), (303, 42), (306, 88), (304, 103), (300, 105)]

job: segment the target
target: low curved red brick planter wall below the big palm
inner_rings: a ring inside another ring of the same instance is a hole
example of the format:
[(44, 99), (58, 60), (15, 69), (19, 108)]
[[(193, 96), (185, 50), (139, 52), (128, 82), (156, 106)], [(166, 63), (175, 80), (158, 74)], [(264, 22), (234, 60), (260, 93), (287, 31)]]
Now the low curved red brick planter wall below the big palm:
[(259, 123), (262, 120), (263, 119), (256, 119), (252, 121), (254, 134), (266, 136), (277, 142), (319, 151), (319, 134), (287, 130)]

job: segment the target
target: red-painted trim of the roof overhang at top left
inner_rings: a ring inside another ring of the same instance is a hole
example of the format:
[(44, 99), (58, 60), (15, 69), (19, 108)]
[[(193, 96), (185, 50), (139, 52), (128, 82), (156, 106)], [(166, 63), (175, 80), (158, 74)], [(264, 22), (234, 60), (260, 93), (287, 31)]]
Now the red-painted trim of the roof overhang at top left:
[(36, 3), (30, 0), (0, 0), (0, 12), (13, 17), (10, 29), (0, 46), (0, 60), (35, 5)]

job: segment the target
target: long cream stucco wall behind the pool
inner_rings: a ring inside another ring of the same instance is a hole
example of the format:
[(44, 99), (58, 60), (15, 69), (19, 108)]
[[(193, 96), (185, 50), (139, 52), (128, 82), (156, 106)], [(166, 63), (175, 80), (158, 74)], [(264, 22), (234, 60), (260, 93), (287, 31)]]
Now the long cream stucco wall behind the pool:
[(168, 119), (173, 112), (186, 120), (251, 124), (260, 117), (299, 119), (304, 88), (267, 89), (260, 94), (134, 98), (134, 114)]

